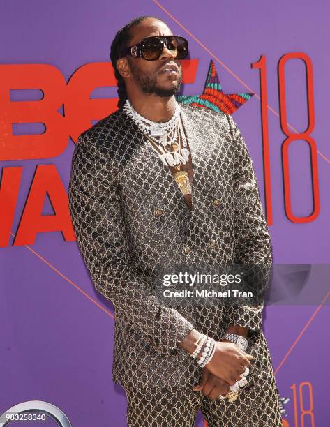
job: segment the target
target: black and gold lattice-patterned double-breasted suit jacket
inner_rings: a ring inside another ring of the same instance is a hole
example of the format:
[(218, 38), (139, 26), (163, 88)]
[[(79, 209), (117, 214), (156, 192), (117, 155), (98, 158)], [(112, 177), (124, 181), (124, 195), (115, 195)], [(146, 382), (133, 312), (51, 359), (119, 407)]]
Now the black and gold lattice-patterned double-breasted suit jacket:
[(201, 368), (177, 343), (193, 327), (220, 340), (227, 325), (239, 324), (252, 331), (249, 352), (262, 385), (273, 375), (262, 306), (174, 309), (153, 292), (159, 263), (271, 263), (253, 161), (236, 123), (229, 114), (181, 109), (193, 158), (193, 211), (122, 110), (82, 133), (73, 154), (68, 197), (77, 244), (96, 290), (115, 308), (112, 379), (193, 386)]

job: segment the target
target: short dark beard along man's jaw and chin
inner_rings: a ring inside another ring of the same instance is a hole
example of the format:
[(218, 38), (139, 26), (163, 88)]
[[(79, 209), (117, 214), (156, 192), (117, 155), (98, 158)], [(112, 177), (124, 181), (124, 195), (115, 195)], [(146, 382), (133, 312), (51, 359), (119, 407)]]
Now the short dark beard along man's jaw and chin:
[(149, 95), (170, 97), (178, 93), (182, 82), (182, 72), (179, 70), (179, 78), (175, 87), (166, 88), (161, 87), (157, 84), (157, 76), (147, 74), (145, 71), (140, 70), (139, 67), (135, 66), (132, 62), (130, 63), (130, 70), (132, 71), (133, 79), (135, 83), (140, 87), (142, 93)]

